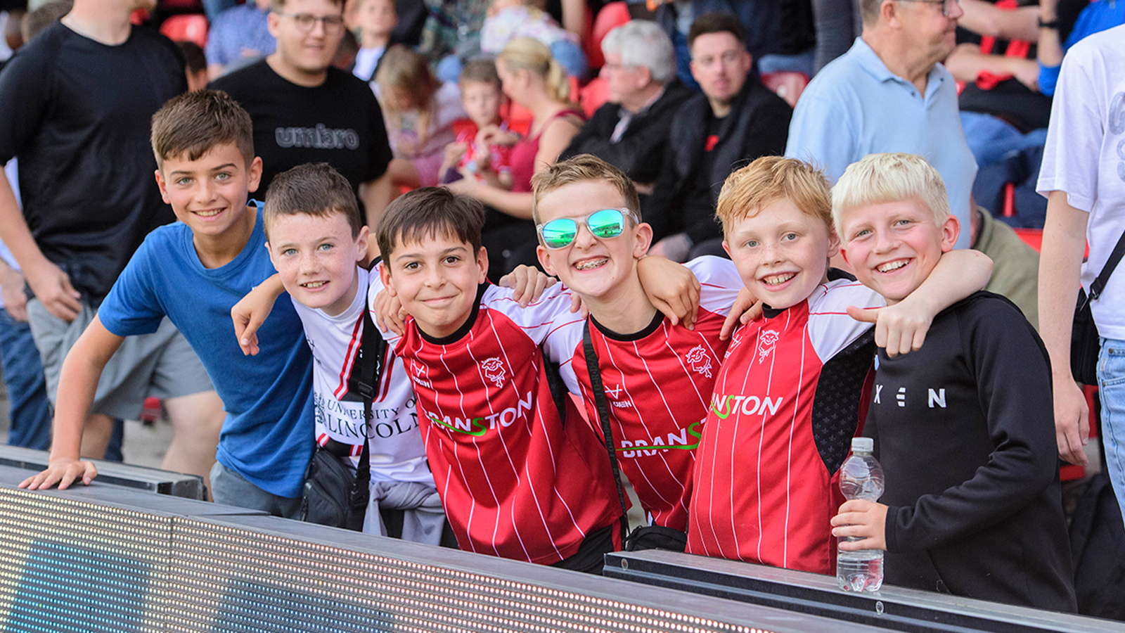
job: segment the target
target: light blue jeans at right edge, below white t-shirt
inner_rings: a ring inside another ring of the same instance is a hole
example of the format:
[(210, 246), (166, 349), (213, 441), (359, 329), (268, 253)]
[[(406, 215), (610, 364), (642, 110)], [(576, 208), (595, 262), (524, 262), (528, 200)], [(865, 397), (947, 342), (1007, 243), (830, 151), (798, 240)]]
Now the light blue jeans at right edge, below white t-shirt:
[(1101, 339), (1098, 394), (1101, 396), (1101, 446), (1106, 449), (1106, 465), (1117, 503), (1125, 516), (1125, 340)]

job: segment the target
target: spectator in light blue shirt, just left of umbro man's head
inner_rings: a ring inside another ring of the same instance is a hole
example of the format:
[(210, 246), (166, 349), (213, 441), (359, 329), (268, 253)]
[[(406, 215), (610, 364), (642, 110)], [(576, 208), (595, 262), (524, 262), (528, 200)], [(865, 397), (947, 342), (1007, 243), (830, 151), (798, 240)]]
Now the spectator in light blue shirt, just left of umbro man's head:
[(266, 27), (270, 0), (249, 0), (215, 18), (207, 34), (207, 78), (216, 78), (273, 53), (277, 42)]

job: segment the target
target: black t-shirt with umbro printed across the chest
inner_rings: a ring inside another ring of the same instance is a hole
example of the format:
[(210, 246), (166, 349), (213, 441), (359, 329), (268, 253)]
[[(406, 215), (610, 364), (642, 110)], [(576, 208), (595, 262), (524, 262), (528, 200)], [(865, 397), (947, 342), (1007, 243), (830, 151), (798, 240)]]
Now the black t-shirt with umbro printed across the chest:
[(306, 162), (327, 162), (351, 182), (375, 180), (387, 171), (390, 144), (379, 101), (367, 83), (328, 69), (314, 88), (284, 79), (262, 60), (212, 82), (250, 113), (254, 152), (262, 157), (263, 197), (273, 177)]

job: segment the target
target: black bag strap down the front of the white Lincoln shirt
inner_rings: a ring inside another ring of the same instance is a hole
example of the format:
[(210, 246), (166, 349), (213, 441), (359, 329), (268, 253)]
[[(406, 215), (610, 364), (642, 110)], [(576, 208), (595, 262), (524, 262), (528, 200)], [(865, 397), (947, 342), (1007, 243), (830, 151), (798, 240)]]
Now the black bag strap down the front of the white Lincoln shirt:
[[(378, 260), (377, 260), (378, 261)], [(376, 264), (377, 264), (376, 261)], [(371, 273), (375, 273), (375, 264), (371, 265)], [(360, 292), (364, 292), (360, 288)], [(364, 292), (366, 294), (366, 292)], [(359, 465), (356, 466), (356, 483), (349, 493), (349, 506), (358, 509), (367, 507), (369, 489), (371, 484), (371, 440), (370, 424), (374, 418), (371, 405), (375, 396), (379, 393), (379, 382), (382, 377), (382, 365), (387, 356), (387, 341), (382, 339), (382, 333), (371, 319), (371, 310), (363, 302), (363, 333), (360, 338), (359, 354), (356, 357), (353, 372), (359, 369), (358, 380), (349, 385), (363, 399), (363, 448), (359, 454)], [(359, 525), (356, 526), (354, 524)], [(349, 516), (349, 529), (363, 529), (363, 512), (352, 512)]]

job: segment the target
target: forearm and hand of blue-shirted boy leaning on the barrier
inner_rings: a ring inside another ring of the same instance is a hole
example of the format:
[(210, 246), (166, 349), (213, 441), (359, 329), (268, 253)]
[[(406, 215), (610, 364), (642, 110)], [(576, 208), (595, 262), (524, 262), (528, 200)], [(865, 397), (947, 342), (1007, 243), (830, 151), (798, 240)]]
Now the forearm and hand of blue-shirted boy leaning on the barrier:
[(98, 378), (124, 340), (125, 337), (110, 332), (94, 316), (71, 347), (58, 376), (47, 469), (25, 479), (20, 488), (38, 490), (57, 483), (58, 489), (64, 490), (76, 479), (81, 478), (82, 483), (89, 484), (98, 475), (98, 469), (92, 463), (80, 461), (82, 427), (93, 404)]

